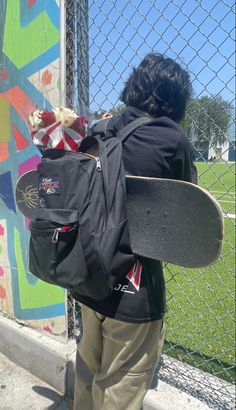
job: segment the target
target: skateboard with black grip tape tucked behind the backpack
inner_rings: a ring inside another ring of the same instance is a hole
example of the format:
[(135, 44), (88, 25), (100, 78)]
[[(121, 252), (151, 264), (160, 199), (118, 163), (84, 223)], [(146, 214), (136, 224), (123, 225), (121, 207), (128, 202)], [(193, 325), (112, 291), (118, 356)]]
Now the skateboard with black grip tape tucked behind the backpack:
[[(134, 254), (197, 268), (215, 262), (223, 242), (223, 215), (218, 202), (188, 182), (126, 176), (127, 213)], [(17, 182), (19, 210), (34, 218), (40, 207), (37, 171)]]

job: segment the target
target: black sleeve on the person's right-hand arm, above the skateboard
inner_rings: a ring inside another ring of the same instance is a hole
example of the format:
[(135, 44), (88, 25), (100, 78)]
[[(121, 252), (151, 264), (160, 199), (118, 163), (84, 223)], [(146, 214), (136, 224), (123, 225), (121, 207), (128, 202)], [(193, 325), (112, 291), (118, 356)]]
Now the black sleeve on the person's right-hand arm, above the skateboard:
[(187, 137), (184, 136), (179, 142), (172, 160), (173, 178), (197, 184), (197, 168), (193, 161), (193, 148)]

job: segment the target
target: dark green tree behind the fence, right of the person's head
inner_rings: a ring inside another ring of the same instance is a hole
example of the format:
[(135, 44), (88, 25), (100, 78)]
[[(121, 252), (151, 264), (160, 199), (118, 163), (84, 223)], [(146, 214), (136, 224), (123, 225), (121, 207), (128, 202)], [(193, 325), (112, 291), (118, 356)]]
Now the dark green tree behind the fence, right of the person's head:
[(227, 139), (230, 109), (220, 96), (192, 99), (181, 125), (195, 146), (217, 147)]

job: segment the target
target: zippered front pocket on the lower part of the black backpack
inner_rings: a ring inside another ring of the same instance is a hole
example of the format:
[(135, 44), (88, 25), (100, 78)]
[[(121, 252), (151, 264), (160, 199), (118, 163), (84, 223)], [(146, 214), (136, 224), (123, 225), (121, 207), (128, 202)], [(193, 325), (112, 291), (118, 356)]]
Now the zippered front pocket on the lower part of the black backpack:
[(77, 211), (41, 209), (30, 223), (29, 270), (45, 282), (79, 290), (87, 265)]

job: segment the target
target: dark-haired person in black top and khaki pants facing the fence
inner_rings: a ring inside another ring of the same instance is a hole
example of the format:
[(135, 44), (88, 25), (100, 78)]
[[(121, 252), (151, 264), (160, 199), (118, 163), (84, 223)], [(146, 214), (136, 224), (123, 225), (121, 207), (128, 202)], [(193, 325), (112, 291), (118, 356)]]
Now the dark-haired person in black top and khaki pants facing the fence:
[[(171, 59), (149, 54), (134, 69), (121, 94), (126, 108), (110, 119), (108, 131), (115, 136), (145, 115), (153, 121), (124, 142), (127, 173), (193, 181), (192, 149), (177, 124), (190, 95), (188, 74)], [(82, 303), (83, 318), (74, 409), (139, 410), (163, 344), (161, 262), (140, 258), (102, 301), (73, 296)]]

